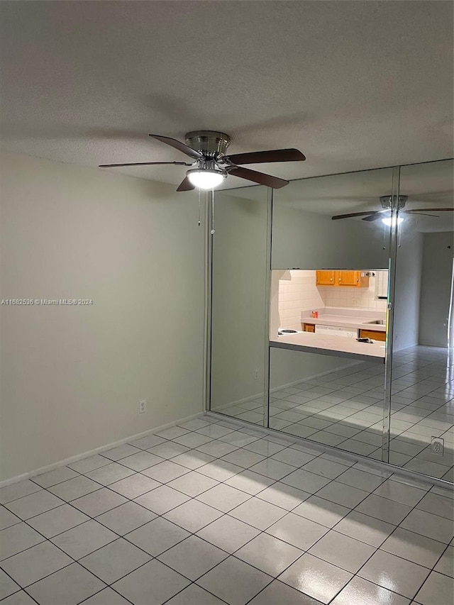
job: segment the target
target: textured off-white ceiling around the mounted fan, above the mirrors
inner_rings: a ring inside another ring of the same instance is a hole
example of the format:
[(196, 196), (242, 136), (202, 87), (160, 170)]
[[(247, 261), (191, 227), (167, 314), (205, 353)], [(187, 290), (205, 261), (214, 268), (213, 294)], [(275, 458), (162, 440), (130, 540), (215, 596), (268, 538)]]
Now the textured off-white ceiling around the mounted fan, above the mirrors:
[(450, 1), (2, 1), (0, 37), (4, 150), (184, 160), (147, 133), (212, 129), (232, 153), (299, 148), (252, 166), (287, 179), (453, 155)]

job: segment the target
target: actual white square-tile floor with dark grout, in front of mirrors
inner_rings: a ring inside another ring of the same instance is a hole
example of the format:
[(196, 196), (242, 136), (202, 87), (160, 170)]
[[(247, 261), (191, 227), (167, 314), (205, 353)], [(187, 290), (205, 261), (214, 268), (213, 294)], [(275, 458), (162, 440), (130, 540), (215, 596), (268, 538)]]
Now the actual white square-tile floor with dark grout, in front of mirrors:
[(222, 416), (128, 445), (0, 489), (1, 605), (453, 602), (447, 489)]

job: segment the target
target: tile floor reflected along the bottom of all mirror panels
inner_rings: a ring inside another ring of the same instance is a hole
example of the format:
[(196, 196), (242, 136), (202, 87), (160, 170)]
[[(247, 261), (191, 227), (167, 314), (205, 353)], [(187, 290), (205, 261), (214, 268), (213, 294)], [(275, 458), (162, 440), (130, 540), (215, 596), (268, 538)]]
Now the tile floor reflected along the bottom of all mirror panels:
[[(363, 362), (272, 392), (270, 428), (382, 460), (384, 367)], [(217, 410), (216, 410), (217, 411)], [(263, 400), (219, 410), (262, 424)], [(454, 482), (454, 367), (448, 351), (394, 353), (389, 462)], [(444, 455), (431, 452), (442, 437)]]

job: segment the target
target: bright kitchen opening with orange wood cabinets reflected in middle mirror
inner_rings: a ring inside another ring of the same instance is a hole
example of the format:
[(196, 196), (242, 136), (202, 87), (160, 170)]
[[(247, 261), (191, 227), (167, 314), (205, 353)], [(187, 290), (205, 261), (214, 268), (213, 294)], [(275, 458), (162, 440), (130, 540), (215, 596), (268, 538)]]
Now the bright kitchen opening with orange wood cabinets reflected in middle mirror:
[(270, 345), (384, 357), (388, 270), (273, 270)]

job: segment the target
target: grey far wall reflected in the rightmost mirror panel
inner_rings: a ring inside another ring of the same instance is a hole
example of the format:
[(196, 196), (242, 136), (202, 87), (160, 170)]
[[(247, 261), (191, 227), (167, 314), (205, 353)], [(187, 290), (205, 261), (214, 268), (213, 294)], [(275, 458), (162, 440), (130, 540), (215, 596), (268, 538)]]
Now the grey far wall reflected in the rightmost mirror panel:
[(419, 343), (448, 344), (448, 313), (453, 271), (453, 232), (423, 234)]

